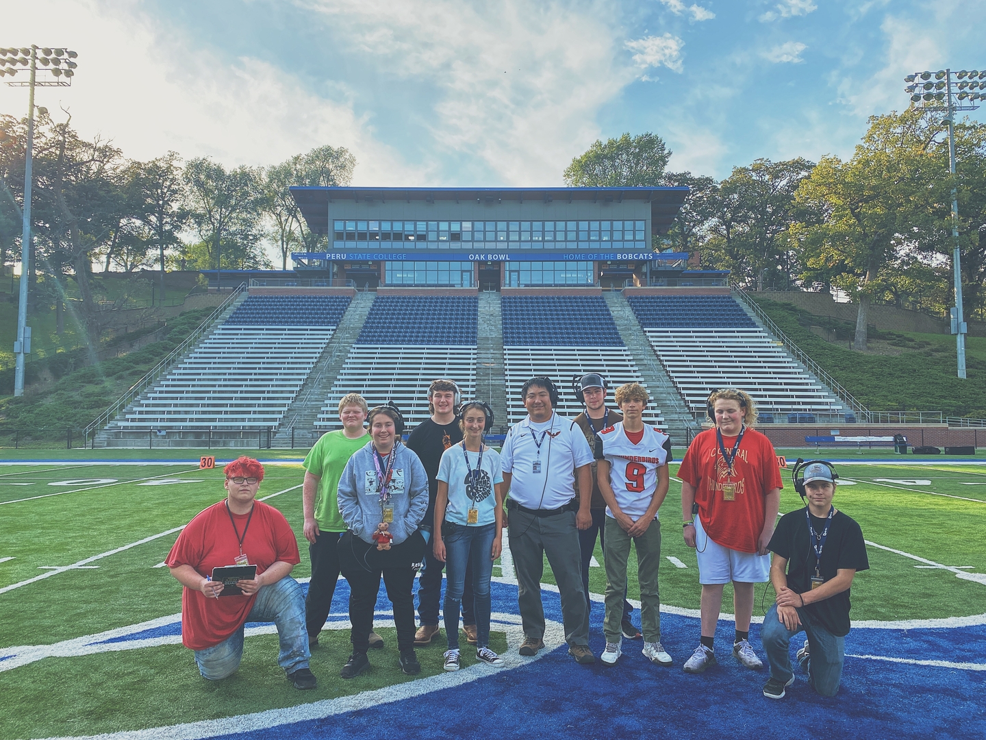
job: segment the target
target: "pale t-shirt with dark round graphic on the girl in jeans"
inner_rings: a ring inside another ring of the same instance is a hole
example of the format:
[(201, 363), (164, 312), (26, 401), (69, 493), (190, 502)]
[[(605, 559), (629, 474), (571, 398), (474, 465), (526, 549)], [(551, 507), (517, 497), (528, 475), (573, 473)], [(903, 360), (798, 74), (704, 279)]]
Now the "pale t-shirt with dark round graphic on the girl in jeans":
[[(500, 453), (492, 448), (483, 450), (482, 468), (477, 481), (472, 483), (469, 473), (479, 464), (479, 453), (465, 450), (465, 455), (469, 458), (469, 465), (466, 467), (462, 451), (461, 443), (453, 445), (442, 453), (442, 460), (438, 465), (436, 478), (449, 483), (449, 505), (445, 509), (445, 518), (454, 524), (468, 527), (494, 524), (496, 495), (493, 486), (503, 482)], [(469, 524), (468, 510), (473, 505), (478, 509), (479, 519), (475, 524)]]

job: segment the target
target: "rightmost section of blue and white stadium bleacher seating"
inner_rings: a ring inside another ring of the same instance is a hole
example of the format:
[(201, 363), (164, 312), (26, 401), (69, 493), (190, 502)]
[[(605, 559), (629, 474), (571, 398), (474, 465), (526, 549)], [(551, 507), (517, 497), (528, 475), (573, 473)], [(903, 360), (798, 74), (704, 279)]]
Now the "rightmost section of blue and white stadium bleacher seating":
[(832, 419), (845, 412), (731, 296), (631, 296), (628, 302), (693, 413), (703, 414), (709, 393), (724, 387), (749, 393), (770, 414), (768, 423), (777, 414), (813, 421), (816, 414)]

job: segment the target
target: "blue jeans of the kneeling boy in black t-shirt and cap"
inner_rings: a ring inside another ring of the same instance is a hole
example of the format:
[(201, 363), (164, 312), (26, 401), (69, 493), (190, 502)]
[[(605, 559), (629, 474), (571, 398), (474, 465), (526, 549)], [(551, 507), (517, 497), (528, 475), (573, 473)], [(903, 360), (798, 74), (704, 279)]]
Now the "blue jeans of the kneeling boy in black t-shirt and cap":
[(763, 618), (760, 639), (770, 663), (771, 677), (787, 683), (794, 676), (791, 668), (791, 638), (805, 630), (809, 643), (809, 684), (823, 697), (834, 697), (839, 691), (842, 664), (845, 662), (846, 638), (836, 637), (817, 621), (811, 619), (807, 609), (798, 610), (801, 625), (787, 629), (777, 617), (774, 604)]

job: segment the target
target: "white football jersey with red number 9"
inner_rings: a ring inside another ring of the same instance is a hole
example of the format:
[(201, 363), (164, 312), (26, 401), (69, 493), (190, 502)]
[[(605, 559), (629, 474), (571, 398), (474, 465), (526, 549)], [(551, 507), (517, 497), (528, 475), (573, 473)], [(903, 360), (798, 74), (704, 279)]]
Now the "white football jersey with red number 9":
[[(634, 521), (646, 514), (658, 486), (658, 468), (671, 460), (669, 436), (646, 425), (642, 432), (627, 432), (620, 421), (596, 435), (595, 452), (597, 460), (609, 463), (609, 484), (623, 513)], [(606, 516), (612, 517), (608, 506)]]

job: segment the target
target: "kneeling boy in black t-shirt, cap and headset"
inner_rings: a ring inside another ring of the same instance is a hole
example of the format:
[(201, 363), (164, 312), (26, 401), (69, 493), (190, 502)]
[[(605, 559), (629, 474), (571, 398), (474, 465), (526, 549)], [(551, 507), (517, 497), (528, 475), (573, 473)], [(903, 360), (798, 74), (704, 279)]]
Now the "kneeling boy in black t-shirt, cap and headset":
[(791, 637), (802, 629), (808, 640), (798, 659), (809, 683), (818, 694), (835, 696), (849, 633), (849, 587), (857, 570), (870, 567), (859, 524), (832, 506), (834, 470), (811, 462), (804, 475), (804, 483), (795, 481), (795, 487), (808, 497), (808, 505), (781, 517), (767, 546), (774, 554), (770, 582), (777, 592), (760, 630), (770, 662), (770, 679), (763, 687), (769, 699), (783, 699), (794, 683)]

